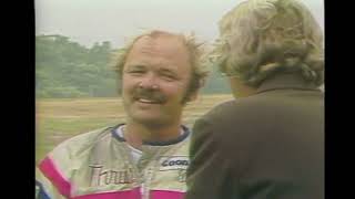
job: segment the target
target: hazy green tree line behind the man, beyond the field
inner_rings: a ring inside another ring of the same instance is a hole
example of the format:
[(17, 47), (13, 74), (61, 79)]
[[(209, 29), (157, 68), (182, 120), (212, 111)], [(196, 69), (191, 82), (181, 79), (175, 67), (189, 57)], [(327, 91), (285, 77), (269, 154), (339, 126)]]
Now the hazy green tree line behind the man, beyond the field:
[[(37, 97), (110, 97), (120, 94), (109, 41), (91, 48), (64, 35), (36, 36)], [(212, 70), (202, 93), (229, 93), (225, 80)]]

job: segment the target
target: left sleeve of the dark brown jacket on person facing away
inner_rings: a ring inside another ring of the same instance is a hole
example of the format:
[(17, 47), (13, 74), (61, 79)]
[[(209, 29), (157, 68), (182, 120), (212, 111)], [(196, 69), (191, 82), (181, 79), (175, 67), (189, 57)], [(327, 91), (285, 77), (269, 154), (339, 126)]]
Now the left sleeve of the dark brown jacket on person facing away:
[(224, 187), (233, 186), (230, 179), (229, 163), (221, 154), (221, 143), (214, 126), (199, 119), (194, 127), (190, 146), (191, 163), (186, 172), (187, 192), (185, 199), (232, 198)]

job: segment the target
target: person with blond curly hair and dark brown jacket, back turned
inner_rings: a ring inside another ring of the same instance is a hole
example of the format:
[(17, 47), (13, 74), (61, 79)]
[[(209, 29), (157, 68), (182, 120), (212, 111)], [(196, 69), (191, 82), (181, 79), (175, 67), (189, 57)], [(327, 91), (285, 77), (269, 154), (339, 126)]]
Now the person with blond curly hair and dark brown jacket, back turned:
[(297, 0), (247, 0), (211, 59), (235, 101), (193, 127), (186, 199), (324, 198), (323, 33)]

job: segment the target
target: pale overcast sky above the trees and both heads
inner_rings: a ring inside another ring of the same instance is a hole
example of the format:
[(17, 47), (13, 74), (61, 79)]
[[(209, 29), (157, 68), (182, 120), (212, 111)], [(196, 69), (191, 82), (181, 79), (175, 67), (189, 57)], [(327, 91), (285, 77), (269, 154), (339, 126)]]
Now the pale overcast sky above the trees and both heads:
[[(243, 0), (36, 0), (37, 34), (62, 34), (91, 46), (113, 48), (142, 30), (189, 33), (204, 41), (217, 38), (217, 21)], [(324, 30), (324, 1), (302, 0)]]

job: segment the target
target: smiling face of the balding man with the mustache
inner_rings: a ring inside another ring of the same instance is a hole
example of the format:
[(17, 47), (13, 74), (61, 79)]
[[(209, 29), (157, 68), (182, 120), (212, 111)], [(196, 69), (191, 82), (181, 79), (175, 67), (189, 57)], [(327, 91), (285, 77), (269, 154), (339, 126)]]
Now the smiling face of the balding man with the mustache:
[(180, 124), (191, 70), (187, 50), (179, 38), (139, 39), (122, 74), (122, 97), (129, 121), (150, 126)]

